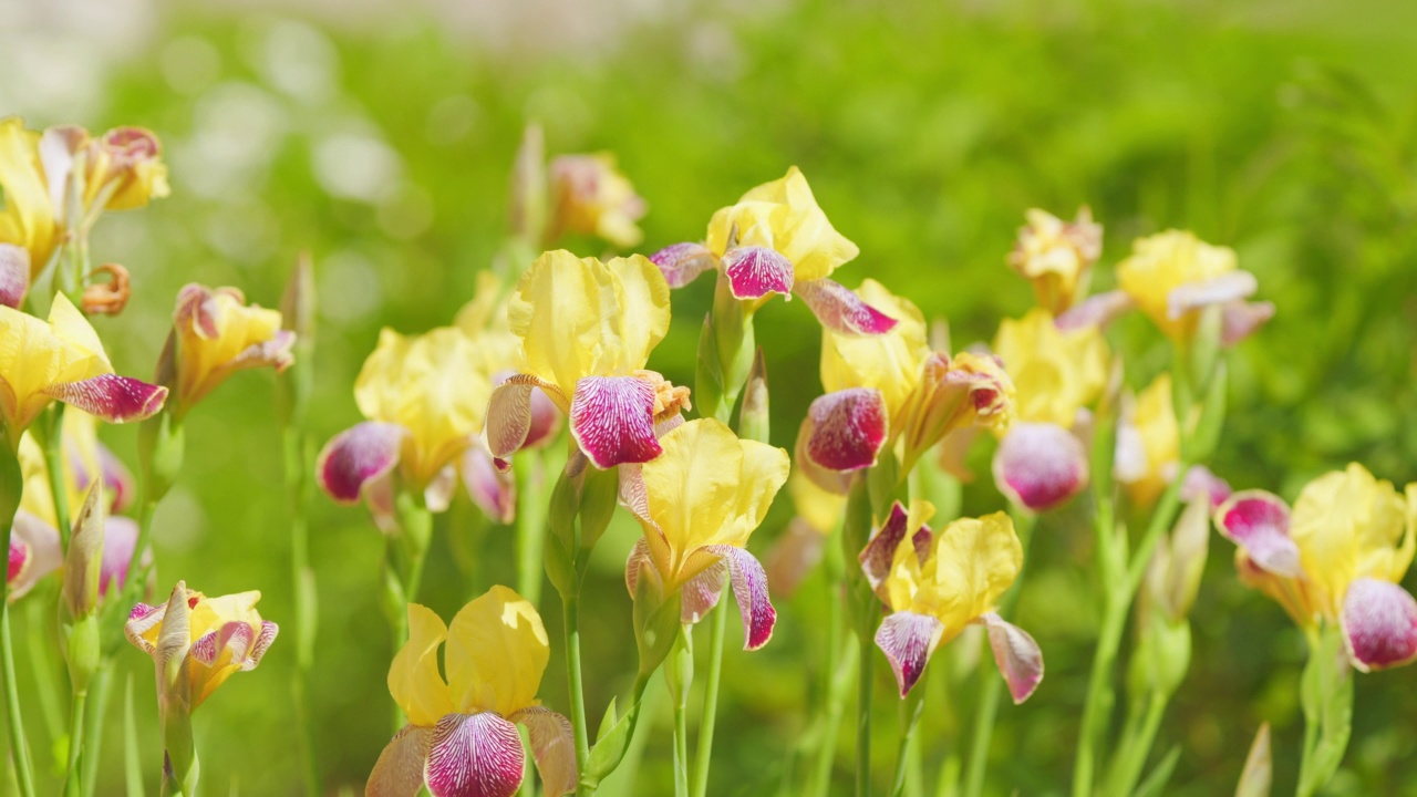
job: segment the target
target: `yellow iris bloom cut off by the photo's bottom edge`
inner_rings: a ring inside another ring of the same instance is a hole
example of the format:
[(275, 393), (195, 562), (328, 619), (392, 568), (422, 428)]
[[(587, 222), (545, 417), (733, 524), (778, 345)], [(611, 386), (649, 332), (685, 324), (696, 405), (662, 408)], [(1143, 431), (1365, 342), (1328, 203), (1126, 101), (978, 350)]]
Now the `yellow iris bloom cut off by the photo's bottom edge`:
[(408, 644), (388, 669), (408, 725), (378, 756), (364, 794), (414, 797), (427, 786), (434, 797), (510, 797), (526, 769), (517, 723), (531, 737), (544, 794), (574, 791), (571, 723), (536, 699), (550, 651), (536, 607), (507, 587), (492, 587), (448, 625), (408, 604)]

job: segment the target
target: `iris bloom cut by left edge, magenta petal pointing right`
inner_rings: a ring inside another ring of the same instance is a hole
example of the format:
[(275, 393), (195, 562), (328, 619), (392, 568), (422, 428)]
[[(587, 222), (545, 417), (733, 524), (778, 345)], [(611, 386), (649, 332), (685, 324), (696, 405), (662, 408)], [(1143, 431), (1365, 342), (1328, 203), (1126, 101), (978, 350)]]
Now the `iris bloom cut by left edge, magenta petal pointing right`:
[(0, 421), (11, 448), (55, 400), (125, 423), (162, 410), (167, 389), (115, 374), (98, 333), (64, 294), (47, 322), (0, 306)]

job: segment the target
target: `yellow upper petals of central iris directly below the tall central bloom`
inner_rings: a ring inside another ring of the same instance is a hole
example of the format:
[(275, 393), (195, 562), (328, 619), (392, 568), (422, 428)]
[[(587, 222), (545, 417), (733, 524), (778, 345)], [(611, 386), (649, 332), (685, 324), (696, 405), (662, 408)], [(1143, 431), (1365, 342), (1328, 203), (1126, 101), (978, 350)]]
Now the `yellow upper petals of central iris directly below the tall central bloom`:
[[(786, 451), (738, 440), (713, 418), (689, 421), (659, 444), (663, 454), (640, 468), (649, 516), (669, 543), (667, 560), (660, 554), (656, 566), (666, 589), (673, 590), (697, 574), (686, 566), (700, 547), (747, 545), (786, 482), (791, 465)], [(646, 533), (653, 536), (652, 529)]]

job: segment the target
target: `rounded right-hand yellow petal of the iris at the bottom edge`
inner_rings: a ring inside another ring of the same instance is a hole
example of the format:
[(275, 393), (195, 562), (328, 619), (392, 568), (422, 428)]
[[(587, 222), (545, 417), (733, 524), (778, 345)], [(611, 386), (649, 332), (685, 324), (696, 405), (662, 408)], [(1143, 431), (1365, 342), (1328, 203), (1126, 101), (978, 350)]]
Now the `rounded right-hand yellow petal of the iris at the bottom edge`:
[(551, 647), (531, 601), (495, 586), (448, 627), (448, 685), (456, 710), (502, 716), (536, 705)]

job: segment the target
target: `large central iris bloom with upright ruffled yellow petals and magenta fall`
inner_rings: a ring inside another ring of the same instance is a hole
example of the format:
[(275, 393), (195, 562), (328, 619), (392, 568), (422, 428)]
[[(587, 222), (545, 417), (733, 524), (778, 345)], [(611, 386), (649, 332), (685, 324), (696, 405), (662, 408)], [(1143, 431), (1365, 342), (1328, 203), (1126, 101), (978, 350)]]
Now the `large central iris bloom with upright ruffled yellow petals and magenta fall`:
[(677, 416), (689, 391), (645, 369), (669, 330), (669, 285), (655, 264), (546, 252), (517, 282), (507, 318), (524, 366), (487, 407), (487, 447), (502, 465), (534, 431), (534, 389), (570, 417), (597, 468), (659, 455), (655, 423)]

